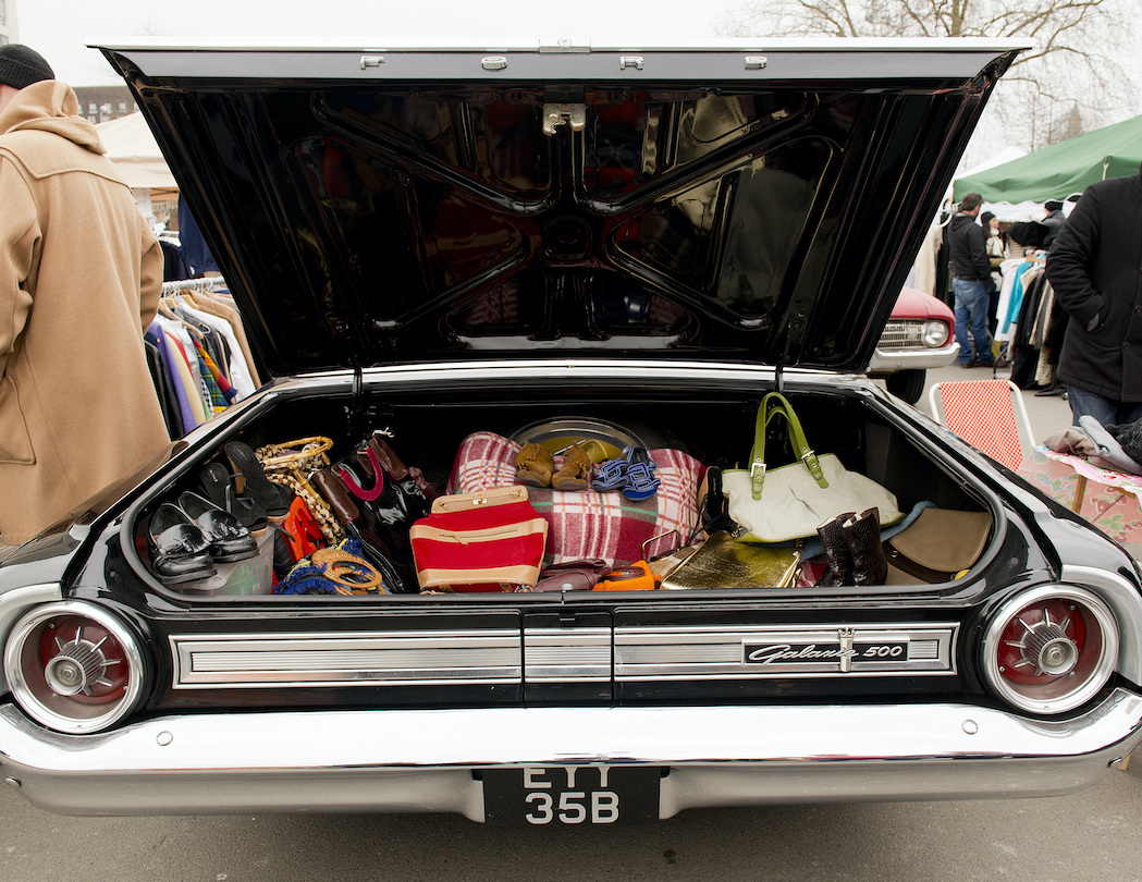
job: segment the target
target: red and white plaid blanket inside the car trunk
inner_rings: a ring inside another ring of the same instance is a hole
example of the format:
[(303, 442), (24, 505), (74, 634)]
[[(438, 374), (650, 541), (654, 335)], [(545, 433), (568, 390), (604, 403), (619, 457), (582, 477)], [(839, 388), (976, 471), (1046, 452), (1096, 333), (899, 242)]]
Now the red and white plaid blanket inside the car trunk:
[[(468, 435), (457, 451), (448, 492), (475, 494), (515, 483), (520, 444), (492, 432)], [(698, 484), (705, 466), (692, 456), (668, 448), (650, 451), (662, 482), (650, 499), (633, 502), (621, 492), (528, 488), (536, 511), (548, 523), (545, 564), (602, 558), (613, 566), (643, 559), (643, 543), (664, 534), (646, 554), (685, 543), (699, 523)], [(555, 457), (555, 465), (562, 465)], [(675, 536), (671, 531), (676, 531)]]

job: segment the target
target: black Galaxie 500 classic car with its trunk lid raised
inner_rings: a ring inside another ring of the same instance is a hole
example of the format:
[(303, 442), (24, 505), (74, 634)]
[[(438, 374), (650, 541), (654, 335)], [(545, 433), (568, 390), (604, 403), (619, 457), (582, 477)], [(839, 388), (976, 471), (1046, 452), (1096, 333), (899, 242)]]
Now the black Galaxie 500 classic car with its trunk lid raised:
[[(1142, 739), (1134, 562), (861, 376), (1021, 48), (103, 46), (273, 379), (0, 566), (3, 778), (59, 812), (534, 825), (1097, 780)], [(793, 580), (690, 591), (160, 566), (163, 506), (257, 483), (267, 444), (383, 438), (441, 492), (481, 432), (730, 468), (774, 391), (972, 555), (858, 586), (805, 547)]]

